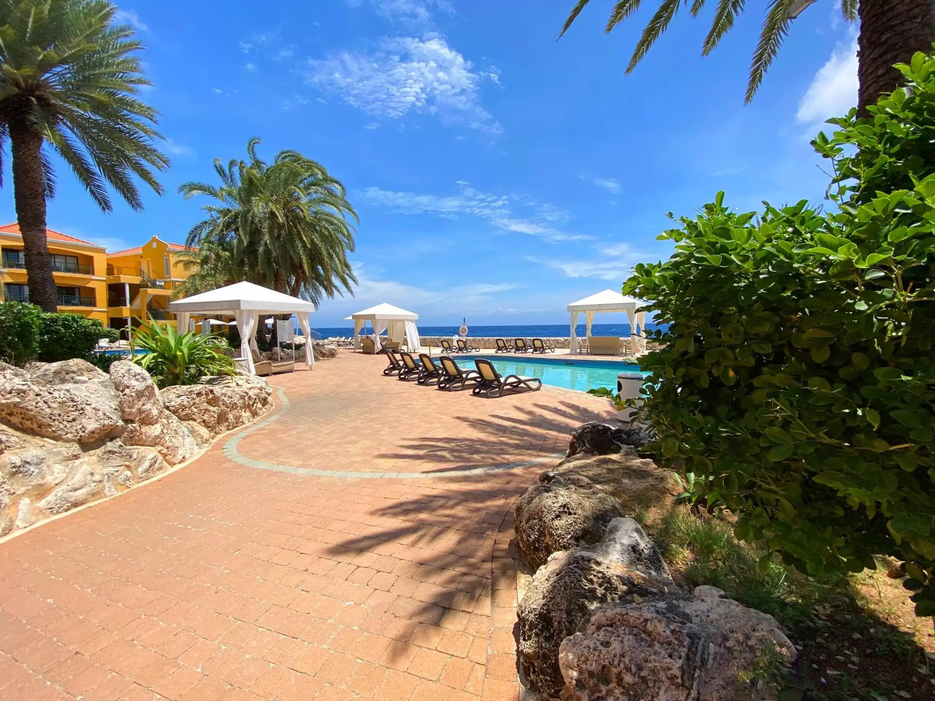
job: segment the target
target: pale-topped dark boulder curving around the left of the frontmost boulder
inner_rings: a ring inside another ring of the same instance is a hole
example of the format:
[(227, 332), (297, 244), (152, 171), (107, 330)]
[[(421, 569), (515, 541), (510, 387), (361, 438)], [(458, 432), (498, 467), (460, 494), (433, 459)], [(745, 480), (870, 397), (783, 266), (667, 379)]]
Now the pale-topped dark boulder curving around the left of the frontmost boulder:
[(525, 684), (547, 698), (556, 698), (565, 686), (558, 665), (562, 640), (583, 630), (599, 606), (639, 601), (666, 591), (659, 579), (604, 563), (593, 552), (554, 553), (539, 567), (517, 608), (517, 661)]

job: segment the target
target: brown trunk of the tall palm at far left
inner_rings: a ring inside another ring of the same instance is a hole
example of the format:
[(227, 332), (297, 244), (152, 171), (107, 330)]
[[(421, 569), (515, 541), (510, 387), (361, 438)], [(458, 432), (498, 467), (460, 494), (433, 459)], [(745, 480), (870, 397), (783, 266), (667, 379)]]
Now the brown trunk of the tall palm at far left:
[(45, 311), (58, 310), (58, 290), (52, 278), (46, 242), (46, 187), (42, 174), (42, 135), (25, 124), (9, 124), (13, 153), (13, 199), (26, 254), (29, 301)]

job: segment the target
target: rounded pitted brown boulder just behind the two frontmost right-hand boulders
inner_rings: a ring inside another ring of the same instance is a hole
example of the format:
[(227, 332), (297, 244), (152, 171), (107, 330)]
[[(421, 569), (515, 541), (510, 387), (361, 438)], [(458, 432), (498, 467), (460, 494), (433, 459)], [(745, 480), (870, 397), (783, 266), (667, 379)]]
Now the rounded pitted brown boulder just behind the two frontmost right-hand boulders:
[(623, 516), (617, 500), (589, 479), (547, 477), (552, 474), (544, 473), (513, 507), (516, 545), (533, 569), (545, 565), (553, 552), (597, 543), (611, 520)]

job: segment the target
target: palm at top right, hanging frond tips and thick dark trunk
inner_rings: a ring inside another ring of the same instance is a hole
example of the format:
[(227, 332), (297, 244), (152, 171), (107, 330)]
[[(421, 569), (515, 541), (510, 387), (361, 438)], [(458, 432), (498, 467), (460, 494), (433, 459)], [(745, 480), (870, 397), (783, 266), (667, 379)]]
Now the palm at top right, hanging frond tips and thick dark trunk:
[[(578, 18), (590, 0), (578, 0), (571, 9), (561, 35)], [(619, 0), (611, 9), (611, 18), (605, 27), (610, 32), (617, 24), (626, 20), (640, 7), (642, 0)], [(705, 6), (707, 0), (692, 0), (690, 13), (693, 18)], [(798, 14), (816, 0), (769, 0), (766, 19), (760, 32), (759, 42), (750, 66), (746, 102), (749, 103), (770, 68), (773, 58)], [(669, 27), (680, 6), (688, 6), (688, 0), (661, 0), (654, 16), (643, 29), (637, 47), (633, 51), (626, 73), (630, 73), (647, 51)], [(717, 0), (711, 29), (705, 37), (701, 55), (707, 56), (721, 38), (734, 26), (734, 21), (744, 10), (746, 0)], [(935, 3), (932, 0), (841, 0), (841, 14), (846, 21), (860, 21), (857, 42), (857, 77), (860, 88), (857, 107), (862, 111), (872, 105), (883, 93), (889, 93), (899, 85), (901, 75), (893, 64), (909, 63), (916, 51), (928, 52), (935, 41)]]

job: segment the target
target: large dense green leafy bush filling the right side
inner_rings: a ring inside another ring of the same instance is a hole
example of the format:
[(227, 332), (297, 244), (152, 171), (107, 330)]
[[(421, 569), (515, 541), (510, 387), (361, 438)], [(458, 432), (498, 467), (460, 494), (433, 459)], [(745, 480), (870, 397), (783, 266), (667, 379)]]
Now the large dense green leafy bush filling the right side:
[(935, 57), (898, 67), (905, 88), (813, 142), (834, 165), (836, 211), (737, 214), (718, 193), (624, 292), (670, 324), (644, 363), (664, 459), (737, 514), (738, 537), (804, 572), (904, 561), (930, 616)]

